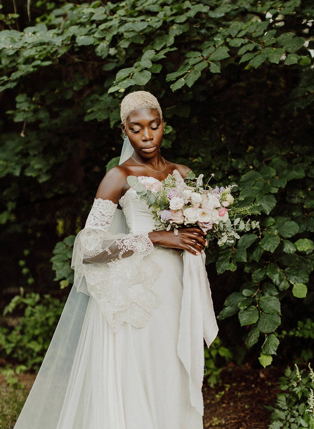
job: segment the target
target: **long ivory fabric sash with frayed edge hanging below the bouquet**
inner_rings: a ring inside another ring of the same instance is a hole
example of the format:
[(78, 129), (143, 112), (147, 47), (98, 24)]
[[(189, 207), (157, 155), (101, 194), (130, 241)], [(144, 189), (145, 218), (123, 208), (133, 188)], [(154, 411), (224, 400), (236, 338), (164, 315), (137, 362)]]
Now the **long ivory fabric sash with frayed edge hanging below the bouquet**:
[(205, 269), (205, 253), (183, 253), (183, 296), (177, 352), (189, 375), (190, 400), (204, 415), (204, 341), (211, 345), (218, 333), (211, 290)]

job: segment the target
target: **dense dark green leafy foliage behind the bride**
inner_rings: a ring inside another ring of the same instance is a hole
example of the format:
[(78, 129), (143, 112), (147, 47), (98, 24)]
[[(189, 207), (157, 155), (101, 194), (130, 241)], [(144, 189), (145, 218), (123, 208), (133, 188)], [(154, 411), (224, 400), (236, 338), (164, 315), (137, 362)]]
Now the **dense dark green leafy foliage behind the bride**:
[(121, 151), (119, 103), (145, 89), (166, 120), (163, 156), (262, 211), (260, 229), (208, 248), (220, 338), (207, 362), (312, 359), (313, 3), (1, 8), (2, 308), (20, 287), (69, 292), (75, 234)]

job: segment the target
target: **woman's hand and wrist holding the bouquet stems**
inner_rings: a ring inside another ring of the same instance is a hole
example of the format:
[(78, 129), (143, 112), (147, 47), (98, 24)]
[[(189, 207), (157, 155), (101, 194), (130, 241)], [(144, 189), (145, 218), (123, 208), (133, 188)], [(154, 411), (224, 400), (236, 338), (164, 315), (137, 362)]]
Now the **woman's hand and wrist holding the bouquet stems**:
[(173, 230), (151, 231), (148, 237), (154, 245), (187, 250), (193, 255), (202, 253), (207, 246), (206, 233), (198, 227), (178, 228), (177, 236)]

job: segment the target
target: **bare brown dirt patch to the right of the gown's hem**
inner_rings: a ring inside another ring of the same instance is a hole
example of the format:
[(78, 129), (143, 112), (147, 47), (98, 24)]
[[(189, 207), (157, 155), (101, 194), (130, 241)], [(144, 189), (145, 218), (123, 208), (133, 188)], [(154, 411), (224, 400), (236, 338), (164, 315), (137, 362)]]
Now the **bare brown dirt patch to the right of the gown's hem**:
[(268, 429), (269, 411), (263, 405), (273, 405), (281, 392), (278, 379), (285, 368), (230, 364), (221, 372), (221, 386), (212, 389), (204, 381), (204, 428)]

